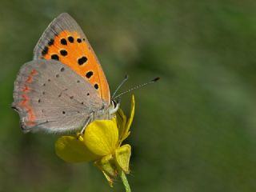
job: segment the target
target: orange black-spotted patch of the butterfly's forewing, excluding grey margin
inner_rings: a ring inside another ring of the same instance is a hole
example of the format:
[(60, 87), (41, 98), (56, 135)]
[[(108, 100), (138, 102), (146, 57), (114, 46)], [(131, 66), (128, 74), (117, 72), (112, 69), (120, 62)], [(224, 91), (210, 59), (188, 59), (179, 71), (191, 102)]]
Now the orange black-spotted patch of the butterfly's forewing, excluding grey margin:
[[(71, 42), (69, 41), (70, 37), (73, 38)], [(61, 42), (62, 39), (65, 39), (66, 43), (63, 44)], [(70, 68), (85, 78), (86, 81), (89, 81), (92, 86), (98, 85), (98, 94), (109, 104), (110, 93), (105, 74), (103, 73), (102, 67), (99, 65), (94, 50), (92, 50), (86, 39), (81, 38), (77, 32), (63, 30), (55, 36), (53, 40), (52, 44), (47, 47), (46, 54), (42, 57), (52, 59), (53, 55), (58, 55), (60, 62), (70, 66)], [(61, 54), (61, 51), (66, 51), (65, 55)], [(82, 57), (86, 57), (86, 62), (79, 64), (78, 59)], [(93, 73), (90, 78), (86, 77), (88, 72)]]

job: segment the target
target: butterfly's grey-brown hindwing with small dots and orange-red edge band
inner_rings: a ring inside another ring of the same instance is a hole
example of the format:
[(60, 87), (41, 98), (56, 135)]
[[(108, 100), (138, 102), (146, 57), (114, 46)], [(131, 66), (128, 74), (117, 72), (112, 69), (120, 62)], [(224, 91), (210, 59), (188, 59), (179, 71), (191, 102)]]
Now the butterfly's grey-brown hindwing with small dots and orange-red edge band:
[(14, 83), (13, 107), (18, 110), (25, 132), (79, 130), (102, 105), (90, 82), (58, 61), (26, 63)]

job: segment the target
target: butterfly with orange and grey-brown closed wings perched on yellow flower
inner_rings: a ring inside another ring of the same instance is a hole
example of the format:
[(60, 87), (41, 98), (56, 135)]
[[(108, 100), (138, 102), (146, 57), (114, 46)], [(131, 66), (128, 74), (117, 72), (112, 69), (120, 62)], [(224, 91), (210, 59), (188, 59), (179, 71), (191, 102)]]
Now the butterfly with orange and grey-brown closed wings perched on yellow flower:
[(46, 28), (14, 82), (14, 110), (23, 132), (73, 133), (110, 119), (118, 103), (86, 35), (69, 14)]

